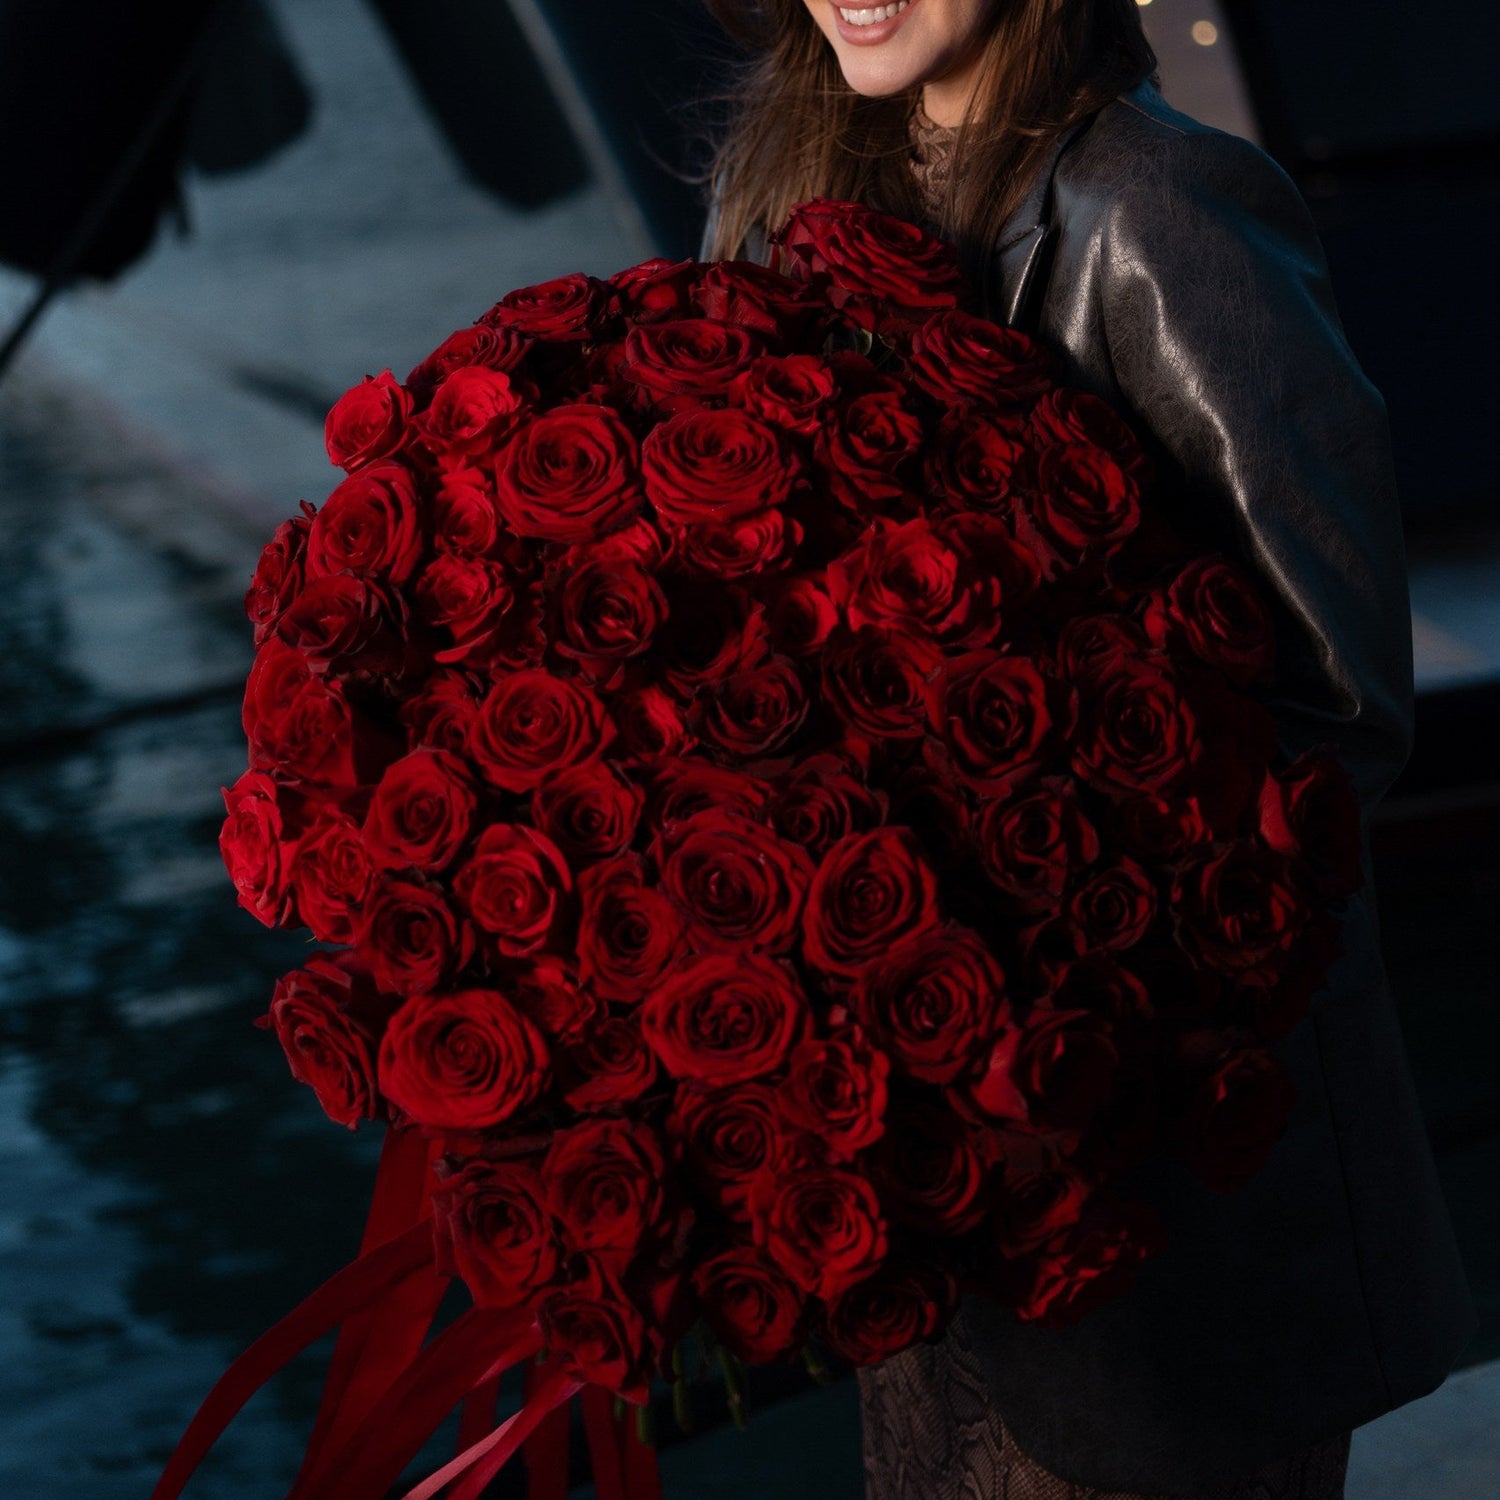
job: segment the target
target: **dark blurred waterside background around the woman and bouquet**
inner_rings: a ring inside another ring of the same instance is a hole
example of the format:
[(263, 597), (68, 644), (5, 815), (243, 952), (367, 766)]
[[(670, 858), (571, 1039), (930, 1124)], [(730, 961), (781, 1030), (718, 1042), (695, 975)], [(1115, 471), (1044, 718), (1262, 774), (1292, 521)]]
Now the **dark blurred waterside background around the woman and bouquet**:
[[(1360, 1430), (1348, 1496), (1494, 1500), (1500, 9), (1143, 18), (1168, 100), (1302, 186), (1390, 410), (1419, 740), (1376, 830), (1382, 918), (1484, 1326)], [(225, 1362), (357, 1242), (378, 1143), (252, 1028), (304, 948), (237, 909), (214, 846), (240, 597), (332, 486), (324, 412), (512, 286), (693, 254), (694, 100), (728, 58), (696, 0), (0, 0), (6, 1500), (144, 1496)], [(192, 1492), (279, 1492), (326, 1353)], [(700, 1398), (696, 1437), (663, 1424), (674, 1500), (861, 1494), (849, 1380), (760, 1380), (747, 1436)]]

